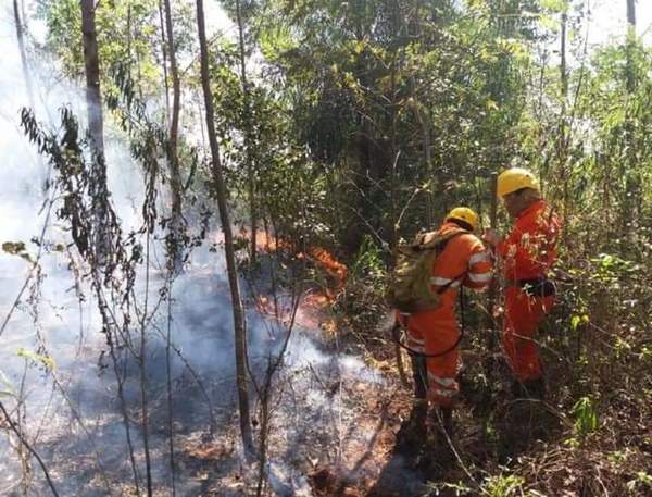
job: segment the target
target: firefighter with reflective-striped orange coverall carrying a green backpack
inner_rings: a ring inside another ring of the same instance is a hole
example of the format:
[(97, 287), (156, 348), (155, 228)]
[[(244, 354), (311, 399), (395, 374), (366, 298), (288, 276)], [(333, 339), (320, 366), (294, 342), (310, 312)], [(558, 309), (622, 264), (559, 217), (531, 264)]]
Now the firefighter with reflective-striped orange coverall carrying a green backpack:
[[(460, 368), (456, 346), (460, 326), (455, 302), (460, 286), (480, 289), (491, 279), (491, 254), (473, 234), (477, 221), (477, 214), (468, 208), (455, 208), (446, 216), (443, 225), (435, 234), (460, 228), (466, 233), (450, 238), (435, 260), (430, 283), (435, 291), (440, 291), (440, 306), (435, 310), (399, 315), (408, 332), (406, 345), (416, 352), (411, 353), (416, 402), (409, 421), (409, 431), (416, 436), (425, 433), (428, 401), (438, 408), (444, 430), (450, 433), (452, 427)], [(437, 409), (434, 414), (438, 415)]]

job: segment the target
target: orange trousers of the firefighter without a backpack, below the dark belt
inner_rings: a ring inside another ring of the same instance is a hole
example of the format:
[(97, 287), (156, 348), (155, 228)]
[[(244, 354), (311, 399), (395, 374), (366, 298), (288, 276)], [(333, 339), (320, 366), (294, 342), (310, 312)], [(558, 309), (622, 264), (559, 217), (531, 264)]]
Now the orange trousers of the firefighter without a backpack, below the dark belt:
[(516, 286), (505, 290), (503, 348), (514, 376), (522, 382), (541, 377), (541, 361), (534, 340), (553, 303), (554, 296), (530, 297)]

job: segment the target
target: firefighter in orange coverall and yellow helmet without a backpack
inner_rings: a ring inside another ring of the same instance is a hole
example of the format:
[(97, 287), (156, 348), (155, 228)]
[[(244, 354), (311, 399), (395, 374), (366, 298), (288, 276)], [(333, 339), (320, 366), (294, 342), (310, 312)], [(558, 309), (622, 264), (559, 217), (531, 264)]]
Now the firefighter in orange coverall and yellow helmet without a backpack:
[(548, 272), (556, 258), (561, 222), (527, 170), (513, 167), (501, 173), (498, 196), (515, 220), (514, 226), (505, 239), (490, 229), (484, 238), (504, 261), (502, 343), (515, 377), (512, 393), (543, 399), (546, 383), (535, 340), (539, 324), (554, 303), (555, 287)]

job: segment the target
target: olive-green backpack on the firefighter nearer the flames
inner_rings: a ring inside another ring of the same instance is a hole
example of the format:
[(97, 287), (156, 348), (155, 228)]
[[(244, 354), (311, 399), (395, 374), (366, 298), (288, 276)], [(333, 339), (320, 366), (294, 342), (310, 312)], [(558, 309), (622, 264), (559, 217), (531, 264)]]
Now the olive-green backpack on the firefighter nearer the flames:
[[(405, 313), (437, 309), (440, 295), (459, 277), (435, 291), (430, 283), (432, 264), (447, 243), (463, 233), (468, 232), (461, 228), (446, 234), (421, 233), (411, 244), (399, 245), (397, 263), (386, 291), (387, 303)], [(426, 238), (429, 238), (427, 243)]]

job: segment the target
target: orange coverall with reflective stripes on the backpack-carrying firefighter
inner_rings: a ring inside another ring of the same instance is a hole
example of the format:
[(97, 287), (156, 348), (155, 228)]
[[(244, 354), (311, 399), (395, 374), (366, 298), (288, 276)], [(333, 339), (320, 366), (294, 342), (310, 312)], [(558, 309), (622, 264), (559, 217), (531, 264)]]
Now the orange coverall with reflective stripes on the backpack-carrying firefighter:
[[(444, 223), (439, 233), (460, 229), (454, 223)], [(435, 310), (401, 314), (408, 328), (408, 347), (416, 352), (436, 355), (452, 347), (460, 337), (455, 315), (459, 288), (479, 289), (491, 281), (491, 254), (473, 234), (451, 238), (432, 266), (430, 283), (434, 289), (450, 286), (440, 295), (441, 306)], [(452, 282), (452, 283), (451, 283)], [(427, 398), (435, 405), (451, 407), (459, 386), (455, 381), (460, 368), (460, 350), (455, 347), (441, 357), (426, 359)]]

